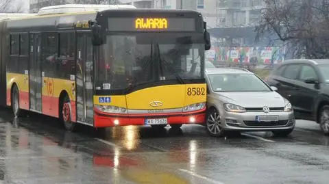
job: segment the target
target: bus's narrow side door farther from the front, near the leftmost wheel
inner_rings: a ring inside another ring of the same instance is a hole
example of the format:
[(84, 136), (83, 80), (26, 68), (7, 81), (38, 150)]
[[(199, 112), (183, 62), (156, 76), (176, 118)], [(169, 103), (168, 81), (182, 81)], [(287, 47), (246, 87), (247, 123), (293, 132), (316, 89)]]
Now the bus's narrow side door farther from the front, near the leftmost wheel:
[(29, 104), (32, 111), (42, 112), (41, 34), (29, 38)]

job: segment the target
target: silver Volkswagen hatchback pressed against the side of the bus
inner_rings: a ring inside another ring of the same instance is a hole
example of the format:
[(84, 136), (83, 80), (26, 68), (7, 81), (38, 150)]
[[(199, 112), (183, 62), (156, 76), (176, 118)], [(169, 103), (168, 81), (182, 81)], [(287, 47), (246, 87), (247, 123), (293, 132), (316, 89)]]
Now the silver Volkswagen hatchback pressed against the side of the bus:
[(243, 68), (207, 68), (206, 130), (220, 137), (227, 131), (272, 131), (289, 135), (295, 127), (291, 103), (262, 79)]

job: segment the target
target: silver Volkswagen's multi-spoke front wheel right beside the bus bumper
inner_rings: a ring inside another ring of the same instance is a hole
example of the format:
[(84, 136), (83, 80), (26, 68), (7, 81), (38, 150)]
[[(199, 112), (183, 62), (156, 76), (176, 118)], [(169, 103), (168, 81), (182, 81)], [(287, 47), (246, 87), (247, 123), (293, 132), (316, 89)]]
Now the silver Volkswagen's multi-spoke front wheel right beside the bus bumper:
[(219, 111), (215, 108), (210, 108), (207, 111), (206, 130), (212, 137), (222, 137), (225, 134), (221, 124), (221, 116)]

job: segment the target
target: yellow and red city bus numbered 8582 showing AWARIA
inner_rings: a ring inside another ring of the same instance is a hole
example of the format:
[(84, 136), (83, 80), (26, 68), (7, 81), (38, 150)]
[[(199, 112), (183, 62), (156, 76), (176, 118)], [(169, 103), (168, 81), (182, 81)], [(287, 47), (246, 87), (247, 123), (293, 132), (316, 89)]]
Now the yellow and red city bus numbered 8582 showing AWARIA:
[(15, 116), (57, 117), (71, 131), (204, 122), (210, 38), (199, 12), (60, 5), (1, 21), (0, 42), (0, 103)]

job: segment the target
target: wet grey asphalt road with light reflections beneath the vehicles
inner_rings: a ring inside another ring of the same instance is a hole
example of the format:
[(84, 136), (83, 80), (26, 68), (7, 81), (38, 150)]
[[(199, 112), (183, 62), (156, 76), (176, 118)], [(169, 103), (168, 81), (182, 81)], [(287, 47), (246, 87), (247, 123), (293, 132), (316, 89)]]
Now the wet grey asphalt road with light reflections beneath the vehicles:
[(14, 120), (0, 110), (0, 183), (329, 183), (329, 137), (297, 120), (289, 137), (243, 133), (209, 137), (115, 127), (64, 131), (56, 119)]

